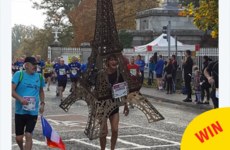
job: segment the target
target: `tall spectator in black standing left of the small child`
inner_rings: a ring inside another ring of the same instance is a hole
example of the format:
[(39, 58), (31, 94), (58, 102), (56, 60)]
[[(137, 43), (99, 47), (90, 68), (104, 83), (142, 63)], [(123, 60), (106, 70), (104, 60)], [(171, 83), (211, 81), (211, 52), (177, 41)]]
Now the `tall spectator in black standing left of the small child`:
[(187, 98), (183, 100), (184, 102), (192, 102), (192, 89), (191, 89), (191, 77), (192, 77), (192, 66), (193, 60), (191, 58), (191, 51), (185, 51), (185, 60), (181, 60), (184, 68), (184, 80), (185, 87), (187, 91)]

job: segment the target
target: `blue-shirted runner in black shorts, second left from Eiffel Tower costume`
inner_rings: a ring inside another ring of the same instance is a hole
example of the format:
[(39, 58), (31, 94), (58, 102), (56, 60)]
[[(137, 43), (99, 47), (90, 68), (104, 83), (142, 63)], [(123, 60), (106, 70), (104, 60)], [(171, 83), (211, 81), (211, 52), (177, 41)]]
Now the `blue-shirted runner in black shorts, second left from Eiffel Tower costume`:
[(59, 87), (59, 98), (62, 101), (62, 93), (65, 91), (67, 83), (67, 73), (69, 73), (69, 67), (64, 64), (64, 59), (60, 59), (60, 65), (55, 67), (55, 73), (57, 74), (58, 87)]

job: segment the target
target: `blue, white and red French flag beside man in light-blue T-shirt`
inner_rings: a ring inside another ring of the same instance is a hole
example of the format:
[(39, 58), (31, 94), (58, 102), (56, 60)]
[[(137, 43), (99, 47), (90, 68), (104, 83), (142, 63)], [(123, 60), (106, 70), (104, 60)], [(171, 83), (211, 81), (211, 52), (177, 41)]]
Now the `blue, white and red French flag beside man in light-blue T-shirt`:
[(65, 144), (62, 142), (60, 136), (43, 116), (41, 116), (41, 121), (43, 135), (46, 137), (47, 145), (51, 148), (60, 148), (62, 150), (65, 150)]

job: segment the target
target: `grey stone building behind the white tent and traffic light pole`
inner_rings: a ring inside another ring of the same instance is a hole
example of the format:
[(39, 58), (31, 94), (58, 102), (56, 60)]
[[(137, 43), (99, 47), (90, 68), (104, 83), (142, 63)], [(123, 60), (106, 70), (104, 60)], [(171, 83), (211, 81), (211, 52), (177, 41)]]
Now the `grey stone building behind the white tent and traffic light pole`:
[(136, 30), (133, 35), (132, 46), (147, 44), (162, 34), (163, 26), (171, 20), (171, 36), (177, 35), (178, 41), (185, 44), (199, 44), (208, 47), (207, 38), (210, 33), (197, 29), (193, 17), (179, 16), (182, 9), (178, 8), (179, 0), (163, 0), (163, 5), (137, 13)]

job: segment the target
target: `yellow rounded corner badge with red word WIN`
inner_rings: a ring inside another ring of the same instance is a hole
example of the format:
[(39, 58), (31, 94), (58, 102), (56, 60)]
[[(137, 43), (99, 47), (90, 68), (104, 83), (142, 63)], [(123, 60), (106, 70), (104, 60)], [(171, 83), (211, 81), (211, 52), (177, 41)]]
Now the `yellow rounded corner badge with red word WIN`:
[(230, 107), (207, 111), (186, 128), (181, 150), (230, 149)]

